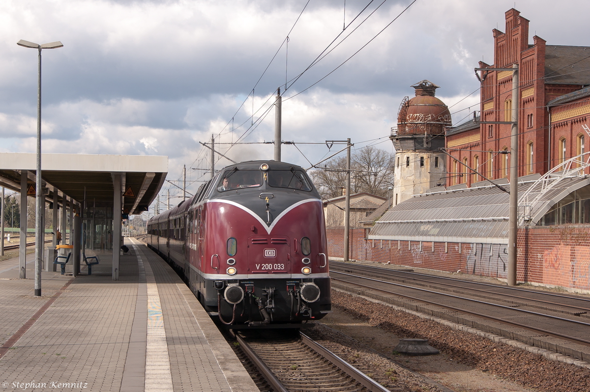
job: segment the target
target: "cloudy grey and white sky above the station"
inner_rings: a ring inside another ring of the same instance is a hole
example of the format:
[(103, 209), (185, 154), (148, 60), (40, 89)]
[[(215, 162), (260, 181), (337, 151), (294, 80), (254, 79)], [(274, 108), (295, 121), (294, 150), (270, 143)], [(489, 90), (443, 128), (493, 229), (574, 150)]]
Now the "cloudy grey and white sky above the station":
[(251, 144), (219, 149), (272, 159), (271, 144), (254, 143), (274, 139), (277, 88), (283, 140), (297, 143), (284, 161), (309, 167), (337, 149), (303, 143), (348, 137), (393, 152), (412, 84), (440, 85), (454, 124), (476, 109), (473, 68), (493, 62), (491, 30), (512, 7), (530, 42), (590, 45), (590, 5), (573, 0), (3, 0), (0, 151), (35, 151), (37, 51), (25, 39), (64, 44), (42, 52), (44, 153), (165, 155), (168, 179), (186, 165), (195, 189), (208, 179), (199, 141), (240, 140)]

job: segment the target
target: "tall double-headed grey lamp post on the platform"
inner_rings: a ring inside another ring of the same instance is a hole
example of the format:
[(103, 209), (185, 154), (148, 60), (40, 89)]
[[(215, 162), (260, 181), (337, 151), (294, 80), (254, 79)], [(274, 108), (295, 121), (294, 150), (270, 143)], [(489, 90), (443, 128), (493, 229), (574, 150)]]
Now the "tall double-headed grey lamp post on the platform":
[[(43, 248), (45, 245), (45, 230), (42, 228), (42, 209), (45, 207), (45, 200), (42, 200), (41, 189), (41, 50), (61, 48), (64, 45), (60, 41), (48, 44), (35, 44), (34, 42), (21, 39), (17, 45), (25, 48), (34, 48), (39, 51), (38, 62), (38, 83), (37, 83), (37, 190), (35, 192), (35, 297), (41, 297), (41, 262), (43, 259)], [(26, 192), (21, 189), (21, 192)], [(22, 223), (21, 223), (22, 224)]]

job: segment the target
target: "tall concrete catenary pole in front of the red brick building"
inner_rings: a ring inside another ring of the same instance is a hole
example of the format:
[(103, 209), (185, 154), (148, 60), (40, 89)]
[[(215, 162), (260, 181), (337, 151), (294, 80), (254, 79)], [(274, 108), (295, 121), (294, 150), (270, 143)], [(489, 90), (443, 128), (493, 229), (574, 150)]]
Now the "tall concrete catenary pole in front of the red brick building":
[(512, 129), (510, 131), (510, 207), (508, 229), (507, 283), (516, 286), (516, 243), (518, 240), (518, 64), (512, 66)]

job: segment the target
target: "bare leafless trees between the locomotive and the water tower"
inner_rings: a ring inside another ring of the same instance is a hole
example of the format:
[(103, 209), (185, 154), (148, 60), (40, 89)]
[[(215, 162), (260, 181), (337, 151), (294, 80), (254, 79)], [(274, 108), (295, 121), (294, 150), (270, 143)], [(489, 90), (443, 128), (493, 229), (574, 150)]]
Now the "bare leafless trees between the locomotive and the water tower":
[[(346, 169), (346, 157), (336, 157), (326, 163), (327, 168)], [(364, 147), (350, 156), (350, 193), (368, 192), (387, 196), (388, 187), (394, 183), (394, 156), (373, 146)], [(326, 199), (342, 196), (346, 185), (346, 172), (332, 172), (324, 169), (310, 173), (320, 195)]]

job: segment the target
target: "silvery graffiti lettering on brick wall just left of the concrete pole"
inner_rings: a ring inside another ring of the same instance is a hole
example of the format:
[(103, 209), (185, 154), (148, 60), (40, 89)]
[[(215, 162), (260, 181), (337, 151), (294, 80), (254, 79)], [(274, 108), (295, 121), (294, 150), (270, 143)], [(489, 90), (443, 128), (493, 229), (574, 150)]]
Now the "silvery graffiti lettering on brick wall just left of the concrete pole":
[(473, 275), (506, 278), (508, 245), (499, 243), (472, 243), (467, 256), (467, 272)]

